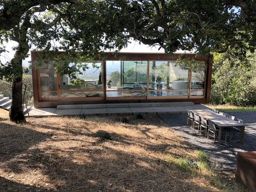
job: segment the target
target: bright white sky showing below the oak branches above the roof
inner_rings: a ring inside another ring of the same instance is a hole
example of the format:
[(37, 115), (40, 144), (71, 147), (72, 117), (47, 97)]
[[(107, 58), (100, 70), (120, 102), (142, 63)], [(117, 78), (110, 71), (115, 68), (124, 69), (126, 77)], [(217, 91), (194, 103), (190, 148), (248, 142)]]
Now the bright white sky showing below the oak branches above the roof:
[[(149, 47), (148, 45), (144, 45), (144, 44), (139, 44), (138, 41), (133, 41), (132, 39), (130, 40), (131, 44), (128, 44), (127, 48), (121, 49), (121, 52), (134, 52), (134, 53), (164, 53), (163, 49), (158, 50), (159, 47)], [(12, 57), (14, 56), (15, 51), (12, 50), (12, 48), (14, 46), (16, 46), (17, 43), (14, 41), (10, 41), (6, 44), (4, 44), (4, 46), (6, 46), (6, 49), (8, 50), (9, 53), (3, 53), (0, 56), (1, 62), (5, 63), (6, 61), (10, 61), (12, 59)], [(31, 49), (34, 50), (34, 49)], [(183, 52), (183, 51), (177, 51), (177, 52)], [(29, 52), (29, 57), (27, 57), (24, 61), (23, 61), (23, 65), (24, 66), (29, 66), (29, 61), (31, 61), (31, 57), (30, 57), (30, 52)]]

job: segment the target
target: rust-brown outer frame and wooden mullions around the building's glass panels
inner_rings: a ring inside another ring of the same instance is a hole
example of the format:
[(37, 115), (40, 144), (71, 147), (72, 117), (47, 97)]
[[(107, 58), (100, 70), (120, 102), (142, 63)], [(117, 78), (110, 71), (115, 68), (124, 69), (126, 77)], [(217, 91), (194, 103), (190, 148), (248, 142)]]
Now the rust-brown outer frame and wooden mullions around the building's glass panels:
[[(174, 102), (174, 101), (192, 101), (194, 103), (209, 103), (210, 93), (211, 93), (211, 74), (212, 74), (212, 59), (213, 56), (201, 56), (195, 57), (193, 53), (187, 54), (173, 54), (173, 56), (168, 56), (164, 53), (120, 53), (125, 57), (125, 61), (147, 61), (147, 89), (146, 90), (107, 90), (106, 89), (106, 61), (120, 61), (119, 57), (115, 57), (112, 53), (106, 53), (106, 60), (102, 61), (102, 84), (103, 90), (60, 90), (60, 76), (57, 74), (57, 91), (41, 91), (40, 83), (40, 70), (37, 70), (34, 66), (34, 61), (38, 57), (39, 51), (31, 51), (31, 61), (32, 61), (32, 76), (33, 76), (33, 92), (34, 92), (34, 106), (35, 107), (53, 107), (60, 104), (77, 104), (77, 103), (123, 103), (123, 102)], [(60, 52), (60, 54), (63, 52)], [(178, 56), (188, 59), (195, 59), (196, 61), (207, 62), (206, 72), (205, 72), (205, 82), (204, 89), (194, 91), (204, 91), (204, 95), (191, 96), (191, 78), (192, 70), (188, 72), (189, 87), (187, 90), (150, 90), (149, 89), (149, 71), (150, 71), (150, 61), (176, 61)], [(97, 58), (95, 60), (98, 60)], [(146, 96), (134, 96), (134, 97), (107, 97), (107, 92), (125, 92), (125, 91), (144, 91)], [(187, 91), (187, 96), (149, 96), (150, 91)], [(44, 92), (57, 92), (58, 98), (41, 98), (41, 93)], [(68, 97), (61, 98), (61, 92), (103, 92), (103, 97)]]

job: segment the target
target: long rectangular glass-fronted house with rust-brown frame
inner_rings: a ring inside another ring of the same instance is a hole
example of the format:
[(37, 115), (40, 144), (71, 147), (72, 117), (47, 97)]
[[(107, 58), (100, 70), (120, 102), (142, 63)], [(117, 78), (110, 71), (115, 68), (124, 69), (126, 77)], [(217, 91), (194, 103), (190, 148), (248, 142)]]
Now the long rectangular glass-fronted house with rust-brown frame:
[[(61, 54), (61, 52), (60, 52)], [(67, 75), (60, 76), (53, 64), (34, 66), (38, 51), (31, 52), (34, 106), (92, 103), (184, 102), (209, 103), (211, 93), (212, 55), (120, 53), (124, 60), (106, 53), (97, 68), (79, 75), (87, 86), (72, 85)], [(193, 59), (189, 65), (177, 64), (178, 56)]]

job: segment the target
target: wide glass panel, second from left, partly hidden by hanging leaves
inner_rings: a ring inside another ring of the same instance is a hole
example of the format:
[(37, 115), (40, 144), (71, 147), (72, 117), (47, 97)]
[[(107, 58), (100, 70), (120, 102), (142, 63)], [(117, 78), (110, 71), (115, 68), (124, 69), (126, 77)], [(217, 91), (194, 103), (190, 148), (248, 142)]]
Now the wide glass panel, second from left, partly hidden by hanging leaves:
[(77, 75), (79, 79), (84, 81), (84, 84), (72, 85), (68, 75), (60, 77), (61, 98), (103, 97), (102, 64), (87, 63), (87, 66), (86, 71), (81, 71), (82, 75)]

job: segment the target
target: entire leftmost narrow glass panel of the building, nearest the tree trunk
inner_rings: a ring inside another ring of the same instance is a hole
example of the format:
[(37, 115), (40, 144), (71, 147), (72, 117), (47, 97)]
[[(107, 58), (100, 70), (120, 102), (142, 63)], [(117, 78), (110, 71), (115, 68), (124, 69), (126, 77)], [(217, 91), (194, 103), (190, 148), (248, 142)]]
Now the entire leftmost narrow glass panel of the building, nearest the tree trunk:
[(40, 67), (41, 98), (57, 98), (57, 74), (54, 72), (53, 63), (49, 62)]

